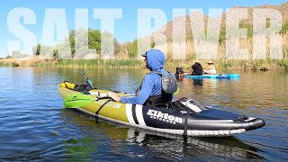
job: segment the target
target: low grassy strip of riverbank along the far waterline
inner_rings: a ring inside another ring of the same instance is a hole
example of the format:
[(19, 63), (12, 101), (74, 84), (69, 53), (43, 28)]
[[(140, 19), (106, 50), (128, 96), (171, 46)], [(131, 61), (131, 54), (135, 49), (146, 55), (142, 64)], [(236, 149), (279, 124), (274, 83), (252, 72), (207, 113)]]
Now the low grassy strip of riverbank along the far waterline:
[[(207, 60), (202, 60), (205, 67)], [(188, 69), (192, 66), (192, 60), (167, 60), (166, 68), (174, 69), (183, 67)], [(243, 69), (243, 70), (288, 70), (288, 59), (257, 59), (257, 60), (215, 60), (215, 65), (220, 69)], [(85, 60), (43, 60), (33, 58), (4, 58), (0, 59), (0, 67), (116, 67), (116, 68), (143, 68), (141, 59), (85, 59)]]

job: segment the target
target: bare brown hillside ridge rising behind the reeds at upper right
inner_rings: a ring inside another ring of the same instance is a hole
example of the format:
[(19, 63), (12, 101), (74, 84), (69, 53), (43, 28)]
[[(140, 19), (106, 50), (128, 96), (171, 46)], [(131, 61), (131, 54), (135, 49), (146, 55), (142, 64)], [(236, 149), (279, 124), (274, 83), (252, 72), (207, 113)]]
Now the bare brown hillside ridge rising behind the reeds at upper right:
[[(252, 26), (252, 23), (253, 23), (253, 18), (252, 18), (253, 17), (252, 16), (253, 8), (276, 9), (283, 15), (284, 22), (288, 23), (288, 2), (284, 3), (284, 4), (279, 4), (279, 5), (260, 5), (260, 6), (257, 6), (257, 7), (238, 7), (238, 6), (234, 6), (233, 8), (247, 8), (248, 9), (248, 18), (246, 20), (241, 21), (241, 23), (243, 23), (244, 25)], [(195, 17), (202, 18), (203, 17), (204, 18), (204, 22), (205, 22), (205, 26), (206, 26), (208, 20), (216, 20), (217, 18), (221, 18), (221, 28), (223, 29), (226, 26), (226, 24), (225, 24), (226, 14), (227, 13), (223, 13), (219, 17), (216, 17), (216, 18), (209, 18), (208, 16), (202, 15), (201, 13), (192, 13), (192, 15), (188, 14), (188, 15), (184, 15), (184, 16), (178, 16), (173, 21), (171, 21), (169, 23), (166, 23), (166, 28), (164, 26), (161, 29), (159, 29), (156, 32), (154, 32), (152, 35), (165, 34), (166, 38), (168, 40), (172, 40), (172, 38), (173, 38), (172, 37), (172, 35), (173, 35), (173, 24), (175, 24), (175, 30), (176, 31), (181, 31), (183, 26), (182, 25), (177, 25), (177, 24), (180, 24), (180, 22), (183, 22), (185, 20), (186, 39), (190, 39), (192, 37), (191, 20), (190, 20), (191, 16), (193, 18), (195, 18)], [(193, 20), (193, 21), (197, 22), (198, 20)], [(201, 20), (199, 20), (199, 21), (201, 21)]]

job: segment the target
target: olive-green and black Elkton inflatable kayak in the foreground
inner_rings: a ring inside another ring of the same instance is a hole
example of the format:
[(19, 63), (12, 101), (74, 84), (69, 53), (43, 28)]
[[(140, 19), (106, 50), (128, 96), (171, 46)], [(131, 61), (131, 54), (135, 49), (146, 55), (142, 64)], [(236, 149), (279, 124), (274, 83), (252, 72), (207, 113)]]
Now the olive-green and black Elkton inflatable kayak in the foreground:
[[(265, 125), (261, 118), (203, 107), (193, 99), (182, 98), (158, 107), (114, 102), (108, 91), (93, 89), (85, 93), (58, 84), (65, 106), (80, 112), (133, 127), (184, 136), (230, 136)], [(119, 93), (120, 95), (128, 95)]]

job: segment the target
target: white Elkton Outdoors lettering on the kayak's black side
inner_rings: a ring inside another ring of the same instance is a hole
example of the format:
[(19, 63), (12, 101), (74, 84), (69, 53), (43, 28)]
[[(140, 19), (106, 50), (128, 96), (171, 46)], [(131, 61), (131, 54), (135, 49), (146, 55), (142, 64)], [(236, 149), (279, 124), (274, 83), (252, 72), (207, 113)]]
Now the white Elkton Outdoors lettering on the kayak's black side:
[(169, 113), (163, 113), (160, 111), (149, 109), (147, 114), (150, 116), (150, 118), (156, 119), (158, 121), (170, 122), (173, 124), (175, 124), (176, 122), (182, 123), (182, 118), (169, 115)]

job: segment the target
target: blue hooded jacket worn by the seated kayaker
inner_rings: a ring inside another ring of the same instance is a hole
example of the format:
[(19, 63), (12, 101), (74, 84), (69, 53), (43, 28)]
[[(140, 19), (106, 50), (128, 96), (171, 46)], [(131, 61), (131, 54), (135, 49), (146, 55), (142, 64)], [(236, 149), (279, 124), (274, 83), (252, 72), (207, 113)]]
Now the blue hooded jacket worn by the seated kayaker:
[[(146, 52), (147, 67), (150, 71), (158, 71), (164, 75), (168, 72), (163, 68), (165, 64), (165, 55), (160, 50), (150, 49)], [(139, 94), (133, 97), (121, 96), (121, 103), (144, 104), (149, 96), (162, 93), (162, 78), (156, 73), (148, 73), (144, 76)]]

